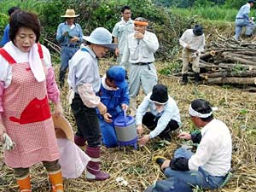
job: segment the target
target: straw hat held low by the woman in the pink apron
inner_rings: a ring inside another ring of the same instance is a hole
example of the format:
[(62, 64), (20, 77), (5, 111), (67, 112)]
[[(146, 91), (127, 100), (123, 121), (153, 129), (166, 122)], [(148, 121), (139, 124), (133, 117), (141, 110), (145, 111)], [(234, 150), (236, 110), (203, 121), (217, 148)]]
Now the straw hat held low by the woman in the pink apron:
[(74, 141), (73, 130), (68, 120), (62, 115), (59, 116), (58, 118), (56, 118), (54, 114), (52, 114), (51, 116), (55, 126), (56, 137), (67, 138), (73, 142)]

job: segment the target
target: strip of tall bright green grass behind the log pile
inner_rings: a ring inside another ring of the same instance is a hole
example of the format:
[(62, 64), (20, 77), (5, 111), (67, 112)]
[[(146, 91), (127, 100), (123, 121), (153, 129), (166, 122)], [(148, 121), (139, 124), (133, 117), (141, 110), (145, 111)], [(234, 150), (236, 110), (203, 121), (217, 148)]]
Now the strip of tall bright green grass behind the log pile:
[[(225, 9), (224, 7), (195, 7), (189, 9), (171, 8), (172, 14), (183, 15), (185, 17), (199, 17), (202, 20), (223, 20), (235, 21), (238, 9)], [(251, 11), (250, 16), (255, 17), (255, 11)]]

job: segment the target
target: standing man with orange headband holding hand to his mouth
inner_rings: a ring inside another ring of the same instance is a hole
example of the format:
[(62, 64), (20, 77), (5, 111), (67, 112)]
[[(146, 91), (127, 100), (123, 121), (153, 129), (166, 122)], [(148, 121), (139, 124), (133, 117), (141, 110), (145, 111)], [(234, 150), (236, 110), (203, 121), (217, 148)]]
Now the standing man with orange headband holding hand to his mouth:
[(157, 73), (154, 66), (154, 53), (159, 48), (156, 35), (147, 31), (148, 20), (138, 17), (134, 20), (134, 30), (125, 44), (121, 66), (129, 61), (129, 94), (131, 116), (136, 114), (137, 94), (142, 84), (143, 92), (147, 95), (157, 84)]

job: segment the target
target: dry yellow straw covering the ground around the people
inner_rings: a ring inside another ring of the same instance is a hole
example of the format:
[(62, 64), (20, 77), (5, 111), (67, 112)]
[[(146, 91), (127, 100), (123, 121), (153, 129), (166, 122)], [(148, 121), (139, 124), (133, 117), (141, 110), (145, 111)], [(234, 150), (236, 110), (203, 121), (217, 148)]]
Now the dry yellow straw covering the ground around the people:
[[(108, 61), (102, 61), (102, 73), (108, 68)], [(166, 67), (165, 63), (157, 63), (158, 69)], [(57, 68), (57, 67), (56, 67)], [(169, 94), (177, 101), (180, 108), (183, 126), (180, 130), (191, 131), (193, 126), (189, 120), (189, 103), (195, 98), (205, 98), (218, 107), (214, 116), (223, 120), (229, 127), (233, 137), (233, 160), (232, 166), (240, 164), (234, 177), (223, 189), (218, 191), (256, 191), (256, 146), (255, 146), (255, 94), (243, 90), (224, 88), (219, 86), (207, 86), (188, 84), (181, 86), (177, 78), (160, 76), (160, 83), (166, 84)], [(67, 87), (62, 90), (61, 98), (67, 119), (73, 125), (75, 123), (70, 107), (66, 100)], [(143, 96), (139, 97), (142, 101)], [(105, 148), (102, 147), (102, 170), (110, 173), (111, 178), (103, 182), (88, 182), (83, 177), (77, 179), (65, 179), (66, 192), (142, 192), (148, 185), (154, 183), (164, 175), (158, 166), (152, 163), (152, 156), (164, 155), (172, 158), (173, 151), (182, 143), (177, 140), (177, 133), (173, 133), (171, 144), (165, 145), (159, 139), (154, 139), (147, 146), (139, 148), (137, 151), (131, 147)], [(159, 143), (155, 149), (154, 143)], [(160, 148), (160, 146), (163, 146)], [(1, 154), (3, 157), (3, 153)], [(2, 158), (1, 158), (2, 159)], [(17, 191), (17, 184), (11, 169), (0, 164), (0, 191)], [(41, 164), (33, 166), (32, 185), (33, 191), (49, 191), (49, 183), (44, 167)], [(128, 182), (127, 186), (119, 185), (117, 177), (124, 177)], [(197, 190), (199, 191), (199, 190)], [(217, 190), (216, 190), (217, 191)]]

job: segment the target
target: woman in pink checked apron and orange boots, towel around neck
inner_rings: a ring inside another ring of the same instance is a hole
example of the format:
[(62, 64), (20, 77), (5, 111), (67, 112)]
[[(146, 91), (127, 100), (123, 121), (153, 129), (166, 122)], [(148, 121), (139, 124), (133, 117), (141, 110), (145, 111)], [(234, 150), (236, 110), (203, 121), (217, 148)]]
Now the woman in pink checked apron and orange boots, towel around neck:
[(21, 192), (32, 191), (29, 167), (38, 162), (43, 162), (52, 189), (63, 192), (49, 99), (56, 118), (63, 109), (49, 50), (38, 44), (38, 16), (17, 11), (9, 26), (10, 41), (0, 49), (0, 139), (7, 133), (16, 147), (4, 152), (4, 161), (14, 169)]

